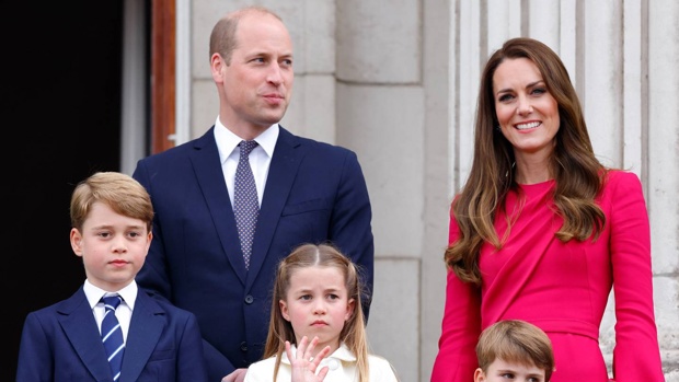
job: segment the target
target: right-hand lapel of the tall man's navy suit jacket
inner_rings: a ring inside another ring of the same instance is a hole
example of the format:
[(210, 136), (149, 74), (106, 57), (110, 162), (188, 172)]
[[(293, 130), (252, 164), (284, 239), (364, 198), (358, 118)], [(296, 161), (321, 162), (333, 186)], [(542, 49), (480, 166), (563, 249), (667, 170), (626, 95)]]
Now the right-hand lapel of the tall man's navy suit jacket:
[(306, 152), (300, 140), (280, 127), (260, 207), (245, 288), (250, 288), (262, 268)]

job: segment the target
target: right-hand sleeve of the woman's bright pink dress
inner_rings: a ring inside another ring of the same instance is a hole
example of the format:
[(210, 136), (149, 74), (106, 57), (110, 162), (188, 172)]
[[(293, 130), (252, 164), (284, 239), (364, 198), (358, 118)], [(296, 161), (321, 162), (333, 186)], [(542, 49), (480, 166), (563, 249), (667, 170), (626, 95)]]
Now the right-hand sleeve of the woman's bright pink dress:
[(615, 297), (617, 382), (665, 381), (655, 324), (651, 229), (638, 177), (613, 172), (601, 205), (610, 206), (610, 255)]

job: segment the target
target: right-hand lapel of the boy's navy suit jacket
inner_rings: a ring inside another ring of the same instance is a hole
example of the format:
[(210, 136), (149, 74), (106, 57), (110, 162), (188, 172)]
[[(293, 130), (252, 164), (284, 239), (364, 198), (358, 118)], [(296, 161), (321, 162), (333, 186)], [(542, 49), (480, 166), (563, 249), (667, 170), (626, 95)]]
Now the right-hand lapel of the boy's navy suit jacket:
[(134, 382), (139, 379), (165, 326), (164, 311), (139, 289), (129, 323), (119, 382)]

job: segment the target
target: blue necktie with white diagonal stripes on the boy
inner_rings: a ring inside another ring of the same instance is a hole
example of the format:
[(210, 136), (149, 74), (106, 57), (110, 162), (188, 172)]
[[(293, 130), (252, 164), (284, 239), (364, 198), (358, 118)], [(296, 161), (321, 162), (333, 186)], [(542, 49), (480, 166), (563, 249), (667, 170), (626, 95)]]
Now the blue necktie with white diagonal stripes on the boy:
[(123, 342), (123, 329), (115, 316), (115, 310), (123, 301), (118, 294), (102, 298), (104, 302), (104, 320), (102, 321), (102, 342), (108, 357), (108, 364), (113, 372), (113, 380), (120, 378), (120, 366), (123, 364), (123, 352), (125, 343)]

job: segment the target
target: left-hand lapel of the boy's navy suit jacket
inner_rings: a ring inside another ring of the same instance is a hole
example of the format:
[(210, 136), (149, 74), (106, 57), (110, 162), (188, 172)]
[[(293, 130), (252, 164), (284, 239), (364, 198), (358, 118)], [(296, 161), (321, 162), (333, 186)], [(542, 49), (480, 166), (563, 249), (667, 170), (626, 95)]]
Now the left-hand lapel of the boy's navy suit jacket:
[(111, 368), (96, 321), (82, 287), (57, 309), (64, 333), (82, 363), (97, 381), (111, 380)]

